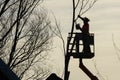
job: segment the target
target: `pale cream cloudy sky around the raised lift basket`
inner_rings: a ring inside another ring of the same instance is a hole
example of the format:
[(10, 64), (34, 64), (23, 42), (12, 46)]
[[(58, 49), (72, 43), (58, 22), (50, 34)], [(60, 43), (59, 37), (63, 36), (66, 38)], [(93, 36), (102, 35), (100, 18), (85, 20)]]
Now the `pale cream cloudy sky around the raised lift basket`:
[[(51, 15), (55, 15), (66, 41), (68, 32), (71, 31), (72, 0), (45, 0), (44, 6)], [(95, 34), (95, 58), (84, 60), (85, 64), (97, 75), (93, 62), (96, 61), (96, 66), (105, 80), (120, 80), (120, 59), (118, 58), (120, 52), (115, 49), (112, 40), (114, 38), (116, 46), (120, 48), (120, 0), (98, 0), (84, 16), (90, 19), (90, 32)], [(59, 40), (55, 40), (54, 44), (56, 46), (53, 56), (56, 60), (54, 65), (58, 66), (55, 71), (61, 75), (62, 71), (59, 68), (63, 67), (61, 64), (64, 61), (61, 60), (62, 47)], [(78, 68), (78, 60), (70, 61), (69, 70), (71, 71), (70, 80), (89, 80)]]

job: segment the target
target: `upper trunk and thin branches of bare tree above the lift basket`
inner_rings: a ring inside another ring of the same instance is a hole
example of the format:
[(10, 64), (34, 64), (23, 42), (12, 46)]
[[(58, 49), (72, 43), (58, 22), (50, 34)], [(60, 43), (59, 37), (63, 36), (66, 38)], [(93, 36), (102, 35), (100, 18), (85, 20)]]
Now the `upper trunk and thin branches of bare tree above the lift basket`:
[(96, 2), (97, 0), (73, 0), (73, 19), (71, 33), (74, 31), (75, 22), (78, 19), (78, 15), (82, 16), (88, 12)]

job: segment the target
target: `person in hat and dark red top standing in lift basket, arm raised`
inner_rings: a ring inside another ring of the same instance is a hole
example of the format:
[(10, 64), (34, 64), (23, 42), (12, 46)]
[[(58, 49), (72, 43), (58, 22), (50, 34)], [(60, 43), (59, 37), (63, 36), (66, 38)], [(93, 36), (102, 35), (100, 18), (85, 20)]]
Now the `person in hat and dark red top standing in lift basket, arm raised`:
[(79, 28), (82, 31), (83, 35), (83, 53), (90, 53), (90, 45), (89, 45), (89, 19), (87, 17), (82, 18), (78, 15), (78, 18), (80, 18), (83, 21), (83, 27), (81, 28), (79, 24), (76, 25), (77, 28)]

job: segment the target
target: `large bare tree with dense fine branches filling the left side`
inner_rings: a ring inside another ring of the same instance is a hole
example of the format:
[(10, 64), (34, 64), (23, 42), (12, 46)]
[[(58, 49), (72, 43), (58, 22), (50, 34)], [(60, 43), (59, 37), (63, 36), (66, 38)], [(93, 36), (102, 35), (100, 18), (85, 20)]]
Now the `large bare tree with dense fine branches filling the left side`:
[(20, 79), (31, 69), (33, 75), (27, 80), (30, 77), (37, 80), (49, 74), (49, 70), (44, 71), (42, 62), (51, 48), (53, 33), (46, 10), (37, 7), (41, 2), (0, 1), (0, 57)]

